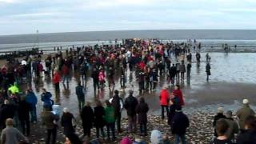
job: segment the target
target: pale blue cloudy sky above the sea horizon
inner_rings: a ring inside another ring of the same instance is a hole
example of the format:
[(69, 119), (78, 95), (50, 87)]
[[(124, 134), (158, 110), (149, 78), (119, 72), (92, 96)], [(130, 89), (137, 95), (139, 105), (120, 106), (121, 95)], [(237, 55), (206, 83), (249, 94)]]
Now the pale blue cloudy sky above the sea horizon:
[(0, 0), (0, 35), (256, 29), (256, 0)]

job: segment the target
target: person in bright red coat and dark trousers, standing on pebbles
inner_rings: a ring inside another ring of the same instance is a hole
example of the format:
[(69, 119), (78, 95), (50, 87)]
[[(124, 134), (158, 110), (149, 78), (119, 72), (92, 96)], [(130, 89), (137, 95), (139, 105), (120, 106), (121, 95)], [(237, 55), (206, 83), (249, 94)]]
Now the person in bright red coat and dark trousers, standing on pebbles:
[(169, 114), (169, 109), (168, 109), (168, 103), (169, 103), (169, 91), (167, 90), (167, 86), (165, 86), (160, 93), (160, 105), (162, 107), (162, 119), (165, 118), (165, 108), (166, 108), (166, 113), (168, 116)]

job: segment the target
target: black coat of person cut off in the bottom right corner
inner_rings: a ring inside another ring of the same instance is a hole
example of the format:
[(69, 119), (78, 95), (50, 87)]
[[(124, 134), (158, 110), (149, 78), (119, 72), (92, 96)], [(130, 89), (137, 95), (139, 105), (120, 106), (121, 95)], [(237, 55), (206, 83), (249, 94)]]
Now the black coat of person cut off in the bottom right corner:
[(247, 130), (239, 134), (237, 138), (238, 144), (256, 144), (256, 130)]

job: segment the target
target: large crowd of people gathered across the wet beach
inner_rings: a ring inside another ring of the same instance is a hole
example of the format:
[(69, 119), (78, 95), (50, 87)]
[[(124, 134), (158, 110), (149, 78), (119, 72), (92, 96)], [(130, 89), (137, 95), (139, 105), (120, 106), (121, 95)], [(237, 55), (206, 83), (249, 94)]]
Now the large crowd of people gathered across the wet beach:
[[(135, 98), (134, 90), (129, 90), (127, 98), (121, 98), (119, 90), (115, 90), (117, 85), (115, 78), (120, 75), (118, 77), (120, 86), (125, 89), (128, 85), (126, 82), (127, 73), (130, 71), (136, 76), (139, 94), (155, 91), (159, 77), (166, 78), (166, 85), (159, 94), (159, 103), (162, 109), (161, 118), (163, 122), (166, 119), (170, 125), (170, 130), (174, 134), (174, 143), (186, 143), (186, 129), (190, 126), (190, 121), (182, 112), (185, 100), (180, 84), (184, 83), (185, 80), (187, 84), (190, 84), (193, 57), (190, 49), (194, 48), (195, 50), (195, 46), (198, 46), (195, 58), (197, 66), (199, 66), (201, 43), (167, 42), (163, 44), (157, 39), (126, 39), (123, 44), (82, 46), (77, 47), (77, 49), (73, 47), (65, 52), (58, 51), (54, 55), (49, 54), (46, 58), (41, 55), (27, 56), (21, 62), (18, 59), (9, 59), (6, 65), (2, 66), (0, 72), (0, 84), (2, 86), (0, 92), (1, 142), (6, 144), (20, 141), (28, 142), (24, 135), (30, 137), (30, 122), (38, 123), (38, 97), (30, 85), (27, 86), (26, 90), (22, 90), (20, 88), (22, 83), (30, 83), (32, 78), (42, 78), (42, 76), (51, 78), (55, 96), (59, 97), (60, 83), (68, 84), (70, 75), (74, 72), (79, 74), (78, 86), (75, 88), (79, 118), (75, 118), (68, 107), (63, 109), (62, 114), (56, 113), (54, 103), (58, 102), (52, 100), (53, 96), (49, 91), (42, 89), (40, 100), (43, 102), (43, 110), (40, 122), (46, 127), (46, 144), (56, 142), (59, 124), (63, 127), (66, 143), (82, 143), (84, 139), (86, 142), (89, 141), (93, 127), (96, 128), (97, 139), (106, 138), (108, 142), (115, 142), (117, 134), (124, 132), (124, 128), (121, 126), (123, 109), (127, 112), (127, 132), (146, 137), (149, 132), (147, 113), (150, 106), (143, 97)], [(209, 76), (210, 55), (206, 54), (206, 81), (209, 81)], [(86, 82), (89, 78), (93, 79), (95, 95), (105, 87), (114, 93), (112, 98), (104, 102), (105, 107), (101, 99), (96, 98), (94, 108), (91, 106), (91, 102), (86, 101)], [(245, 100), (244, 107), (242, 110), (238, 110), (237, 116), (241, 121), (239, 122), (241, 134), (238, 138), (245, 135), (249, 141), (255, 135), (255, 118), (248, 103), (248, 100)], [(214, 143), (221, 143), (224, 140), (226, 143), (230, 143), (231, 140), (233, 142), (234, 134), (238, 134), (235, 126), (233, 126), (234, 131), (231, 134), (230, 125), (226, 125), (226, 123), (231, 123), (229, 121), (232, 121), (232, 114), (229, 112), (229, 115), (224, 116), (222, 111), (218, 110), (219, 113), (214, 118), (216, 136)], [(251, 119), (248, 120), (247, 118)], [(82, 138), (76, 134), (78, 121), (82, 122)], [(139, 127), (138, 132), (137, 125)], [(20, 128), (22, 133), (13, 126)], [(226, 132), (230, 134), (226, 135)], [(245, 139), (238, 139), (237, 142), (242, 142), (240, 140)], [(153, 144), (170, 143), (166, 134), (162, 134), (159, 130), (151, 132), (150, 141)], [(94, 142), (99, 141), (95, 140)], [(131, 142), (132, 140), (128, 137), (121, 141), (124, 144)], [(135, 140), (134, 143), (145, 142)]]

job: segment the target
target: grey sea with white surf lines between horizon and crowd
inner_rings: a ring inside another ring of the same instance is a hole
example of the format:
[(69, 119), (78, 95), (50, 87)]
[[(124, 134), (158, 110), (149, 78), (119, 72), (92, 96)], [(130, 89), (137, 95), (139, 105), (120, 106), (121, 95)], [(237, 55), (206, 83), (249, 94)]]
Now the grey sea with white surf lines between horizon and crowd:
[(256, 30), (116, 30), (0, 35), (0, 51), (29, 50), (33, 47), (53, 50), (54, 46), (66, 49), (71, 46), (113, 44), (115, 39), (121, 43), (124, 38), (159, 38), (162, 42), (196, 39), (208, 50), (220, 50), (226, 43), (231, 48), (237, 45), (237, 52), (256, 52)]

